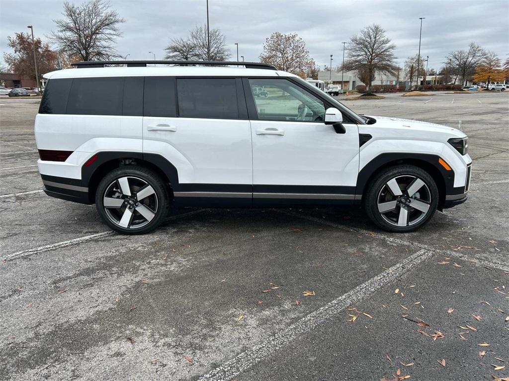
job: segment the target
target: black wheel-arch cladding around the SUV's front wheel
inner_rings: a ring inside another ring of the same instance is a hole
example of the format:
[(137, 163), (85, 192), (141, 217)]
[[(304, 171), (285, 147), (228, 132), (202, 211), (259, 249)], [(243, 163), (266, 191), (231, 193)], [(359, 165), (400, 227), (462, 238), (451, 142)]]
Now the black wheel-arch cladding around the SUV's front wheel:
[(459, 195), (465, 190), (464, 186), (454, 187), (454, 171), (446, 171), (439, 163), (438, 159), (440, 156), (426, 153), (381, 153), (376, 156), (371, 162), (367, 163), (364, 168), (359, 172), (357, 177), (357, 189), (356, 194), (362, 195), (364, 193), (365, 186), (370, 180), (371, 176), (380, 168), (384, 167), (388, 163), (397, 162), (399, 160), (419, 160), (431, 164), (435, 167), (438, 172), (442, 175), (445, 183), (445, 194), (446, 195)]

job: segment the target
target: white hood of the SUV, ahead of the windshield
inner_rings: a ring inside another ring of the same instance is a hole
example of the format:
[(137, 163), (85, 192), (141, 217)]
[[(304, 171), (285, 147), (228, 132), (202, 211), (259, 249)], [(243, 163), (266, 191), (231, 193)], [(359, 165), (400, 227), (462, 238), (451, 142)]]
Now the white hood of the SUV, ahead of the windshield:
[(386, 116), (370, 115), (370, 117), (376, 119), (376, 123), (369, 124), (374, 129), (380, 128), (380, 129), (400, 130), (402, 134), (405, 134), (406, 132), (407, 134), (409, 133), (411, 135), (414, 135), (414, 133), (417, 132), (422, 132), (440, 135), (444, 134), (454, 138), (466, 137), (466, 134), (464, 132), (442, 124), (423, 122), (412, 119), (392, 118)]

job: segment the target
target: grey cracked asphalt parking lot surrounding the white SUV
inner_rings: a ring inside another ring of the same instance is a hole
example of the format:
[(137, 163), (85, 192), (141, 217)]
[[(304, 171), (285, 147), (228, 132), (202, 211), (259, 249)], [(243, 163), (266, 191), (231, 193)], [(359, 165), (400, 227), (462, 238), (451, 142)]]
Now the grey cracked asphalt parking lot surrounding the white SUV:
[(509, 377), (509, 93), (345, 104), (465, 131), (468, 201), (403, 235), (325, 208), (121, 236), (41, 192), (38, 100), (0, 99), (0, 379)]

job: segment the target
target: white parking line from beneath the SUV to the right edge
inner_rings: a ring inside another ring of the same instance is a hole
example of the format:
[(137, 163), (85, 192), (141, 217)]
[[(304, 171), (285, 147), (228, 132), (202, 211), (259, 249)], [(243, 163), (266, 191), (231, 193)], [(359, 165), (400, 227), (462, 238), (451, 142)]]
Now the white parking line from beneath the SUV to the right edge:
[(479, 259), (473, 259), (473, 258), (471, 258), (469, 256), (466, 256), (466, 255), (464, 255), (464, 254), (462, 254), (462, 253), (460, 253), (458, 251), (450, 251), (450, 250), (445, 250), (445, 249), (437, 249), (437, 248), (435, 248), (433, 246), (429, 246), (429, 245), (426, 245), (424, 243), (406, 241), (406, 240), (403, 240), (403, 239), (400, 239), (400, 238), (395, 238), (395, 237), (388, 237), (386, 235), (383, 235), (383, 234), (380, 234), (380, 233), (370, 232), (370, 231), (367, 231), (367, 230), (364, 230), (364, 229), (348, 228), (346, 226), (343, 226), (343, 225), (340, 225), (340, 224), (335, 224), (335, 223), (332, 223), (332, 222), (324, 220), (324, 219), (320, 219), (320, 218), (316, 218), (316, 217), (311, 217), (311, 216), (307, 216), (307, 215), (300, 215), (299, 213), (289, 212), (289, 211), (282, 210), (282, 209), (279, 210), (279, 212), (286, 213), (286, 214), (289, 214), (289, 215), (292, 215), (292, 216), (295, 216), (295, 217), (300, 217), (300, 218), (303, 218), (303, 219), (307, 219), (309, 221), (318, 222), (320, 224), (328, 225), (328, 226), (331, 226), (333, 228), (342, 229), (342, 230), (345, 230), (347, 232), (360, 233), (360, 234), (368, 235), (368, 236), (371, 236), (371, 237), (380, 238), (380, 239), (384, 240), (385, 242), (387, 242), (389, 244), (418, 247), (418, 248), (421, 248), (421, 249), (428, 250), (428, 251), (430, 251), (430, 252), (432, 252), (434, 254), (437, 254), (437, 255), (444, 255), (446, 257), (460, 258), (460, 259), (463, 259), (465, 261), (469, 261), (469, 262), (471, 262), (471, 263), (473, 263), (475, 265), (478, 265), (478, 266), (488, 266), (488, 267), (492, 267), (492, 268), (495, 268), (495, 269), (498, 269), (498, 270), (502, 270), (502, 271), (509, 271), (509, 266), (507, 266), (507, 265), (503, 265), (503, 264), (496, 263), (496, 262), (489, 262), (489, 261), (484, 261), (484, 260), (479, 260)]

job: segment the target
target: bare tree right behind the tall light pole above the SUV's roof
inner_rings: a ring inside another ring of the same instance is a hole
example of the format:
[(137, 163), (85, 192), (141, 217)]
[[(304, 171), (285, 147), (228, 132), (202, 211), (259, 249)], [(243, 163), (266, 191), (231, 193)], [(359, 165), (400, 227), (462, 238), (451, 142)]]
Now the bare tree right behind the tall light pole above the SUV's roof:
[(210, 29), (210, 45), (207, 39), (207, 26), (196, 26), (191, 30), (189, 43), (195, 48), (195, 58), (204, 61), (224, 61), (230, 58), (226, 38), (217, 28)]

